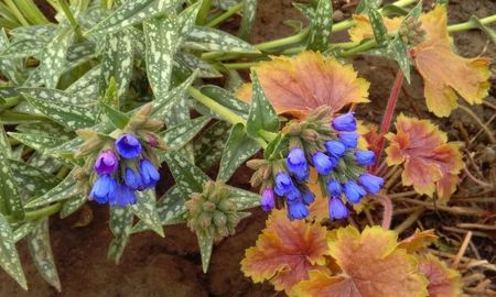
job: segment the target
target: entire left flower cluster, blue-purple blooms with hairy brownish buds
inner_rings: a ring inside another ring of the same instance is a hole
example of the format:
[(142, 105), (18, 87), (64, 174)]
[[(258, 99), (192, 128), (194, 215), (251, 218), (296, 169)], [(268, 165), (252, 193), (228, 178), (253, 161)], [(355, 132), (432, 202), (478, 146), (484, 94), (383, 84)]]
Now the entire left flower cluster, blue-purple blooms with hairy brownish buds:
[[(88, 156), (88, 161), (84, 167), (77, 168), (74, 177), (85, 194), (90, 189), (89, 199), (126, 207), (136, 204), (136, 191), (153, 188), (159, 182), (158, 158), (153, 150), (159, 143), (164, 147), (154, 134), (162, 124), (159, 127), (155, 121), (147, 120), (150, 111), (150, 106), (138, 111), (125, 132), (111, 142), (93, 131), (79, 132), (86, 141), (76, 155)], [(140, 124), (136, 124), (138, 121)]]

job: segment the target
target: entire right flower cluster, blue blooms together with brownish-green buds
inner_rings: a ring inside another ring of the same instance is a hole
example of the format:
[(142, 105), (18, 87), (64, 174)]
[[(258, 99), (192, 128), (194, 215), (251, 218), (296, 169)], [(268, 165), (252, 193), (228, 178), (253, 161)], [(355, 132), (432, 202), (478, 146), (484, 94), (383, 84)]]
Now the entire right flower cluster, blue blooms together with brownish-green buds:
[(310, 168), (317, 173), (321, 188), (330, 197), (330, 218), (344, 219), (348, 210), (344, 199), (358, 204), (366, 194), (380, 190), (384, 179), (366, 173), (375, 162), (371, 151), (357, 150), (357, 123), (352, 112), (330, 119), (326, 109), (311, 113), (305, 121), (292, 121), (285, 128), (289, 153), (284, 160), (254, 160), (251, 183), (261, 185), (261, 207), (268, 211), (281, 197), (291, 220), (309, 216), (314, 194), (309, 190)]

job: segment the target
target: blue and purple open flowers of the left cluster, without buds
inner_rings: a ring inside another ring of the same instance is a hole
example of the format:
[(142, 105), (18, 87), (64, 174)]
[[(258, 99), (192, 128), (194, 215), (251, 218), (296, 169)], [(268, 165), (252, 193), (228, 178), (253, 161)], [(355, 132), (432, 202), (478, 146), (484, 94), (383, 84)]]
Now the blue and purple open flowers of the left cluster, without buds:
[[(89, 198), (98, 204), (125, 207), (136, 202), (136, 190), (154, 187), (160, 174), (150, 160), (143, 157), (141, 143), (134, 135), (122, 134), (115, 142), (115, 147), (118, 155), (112, 150), (98, 155), (94, 166), (98, 177)], [(119, 165), (121, 170), (118, 170)]]

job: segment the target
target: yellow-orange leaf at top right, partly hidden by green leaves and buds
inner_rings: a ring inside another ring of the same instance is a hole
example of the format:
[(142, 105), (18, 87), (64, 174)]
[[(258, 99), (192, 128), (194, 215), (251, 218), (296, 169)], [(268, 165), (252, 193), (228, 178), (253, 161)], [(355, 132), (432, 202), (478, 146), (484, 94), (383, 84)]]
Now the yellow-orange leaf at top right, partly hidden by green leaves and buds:
[[(349, 30), (354, 42), (373, 36), (367, 16), (355, 15), (357, 25)], [(385, 18), (388, 32), (397, 31), (402, 18)], [(446, 8), (438, 6), (420, 15), (425, 40), (412, 48), (417, 69), (424, 80), (424, 96), (430, 111), (448, 117), (457, 107), (457, 95), (468, 103), (482, 103), (489, 90), (489, 63), (486, 57), (464, 58), (451, 48)]]

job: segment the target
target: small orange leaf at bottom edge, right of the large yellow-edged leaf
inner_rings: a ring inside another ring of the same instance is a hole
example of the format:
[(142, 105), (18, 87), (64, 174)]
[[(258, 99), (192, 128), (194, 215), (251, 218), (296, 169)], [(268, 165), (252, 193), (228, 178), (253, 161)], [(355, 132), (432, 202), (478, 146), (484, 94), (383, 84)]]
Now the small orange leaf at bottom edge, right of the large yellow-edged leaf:
[(451, 270), (438, 257), (427, 254), (420, 258), (419, 271), (429, 280), (430, 297), (457, 297), (462, 294), (462, 280), (455, 270)]

